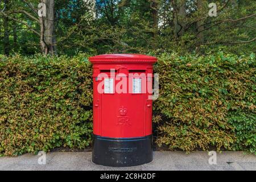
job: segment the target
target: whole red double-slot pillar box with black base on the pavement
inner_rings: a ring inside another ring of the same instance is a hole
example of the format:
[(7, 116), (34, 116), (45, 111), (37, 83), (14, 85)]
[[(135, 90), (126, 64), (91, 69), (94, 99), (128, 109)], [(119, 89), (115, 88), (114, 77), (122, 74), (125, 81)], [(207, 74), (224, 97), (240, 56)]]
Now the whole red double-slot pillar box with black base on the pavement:
[(92, 161), (137, 166), (152, 161), (152, 77), (155, 57), (98, 55), (93, 64)]

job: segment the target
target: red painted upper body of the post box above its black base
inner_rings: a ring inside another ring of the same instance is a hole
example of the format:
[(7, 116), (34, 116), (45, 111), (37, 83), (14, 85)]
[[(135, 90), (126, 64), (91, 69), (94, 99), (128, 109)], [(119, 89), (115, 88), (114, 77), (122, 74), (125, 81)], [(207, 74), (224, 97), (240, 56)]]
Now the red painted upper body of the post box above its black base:
[[(152, 100), (148, 100), (151, 93), (147, 89), (147, 85), (152, 84), (152, 77), (147, 76), (148, 73), (152, 75), (152, 64), (156, 60), (152, 56), (135, 54), (98, 55), (89, 58), (93, 64), (93, 134), (111, 138), (144, 137), (152, 134)], [(100, 74), (105, 73), (110, 78), (111, 69), (115, 70), (114, 93), (98, 92), (98, 87), (105, 89), (106, 77)], [(132, 75), (134, 73), (137, 75)], [(137, 78), (137, 81), (138, 78), (141, 79), (141, 84), (138, 85), (141, 85), (142, 93), (131, 92), (135, 84), (133, 78)], [(125, 82), (126, 87), (123, 86)], [(122, 93), (118, 93), (118, 88), (121, 88)], [(146, 92), (143, 93), (143, 90)]]

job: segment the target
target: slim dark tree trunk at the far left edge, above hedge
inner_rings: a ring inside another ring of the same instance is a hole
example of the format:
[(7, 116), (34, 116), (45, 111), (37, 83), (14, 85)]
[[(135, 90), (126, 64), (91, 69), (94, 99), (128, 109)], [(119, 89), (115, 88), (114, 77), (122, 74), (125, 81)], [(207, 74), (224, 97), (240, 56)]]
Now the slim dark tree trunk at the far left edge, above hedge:
[[(5, 10), (8, 11), (8, 1), (5, 0)], [(3, 46), (5, 49), (5, 55), (9, 56), (10, 53), (10, 42), (9, 42), (9, 19), (7, 16), (3, 18), (3, 31), (4, 31), (4, 38), (3, 38)]]

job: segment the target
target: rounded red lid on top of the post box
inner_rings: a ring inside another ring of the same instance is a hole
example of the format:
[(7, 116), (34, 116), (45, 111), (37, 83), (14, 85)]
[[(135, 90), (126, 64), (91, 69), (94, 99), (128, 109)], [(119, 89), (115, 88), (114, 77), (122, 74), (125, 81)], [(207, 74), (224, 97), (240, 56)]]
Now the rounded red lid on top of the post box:
[(92, 63), (105, 63), (105, 62), (149, 62), (155, 63), (157, 61), (156, 57), (139, 55), (133, 53), (115, 53), (115, 54), (105, 54), (89, 57), (89, 61)]

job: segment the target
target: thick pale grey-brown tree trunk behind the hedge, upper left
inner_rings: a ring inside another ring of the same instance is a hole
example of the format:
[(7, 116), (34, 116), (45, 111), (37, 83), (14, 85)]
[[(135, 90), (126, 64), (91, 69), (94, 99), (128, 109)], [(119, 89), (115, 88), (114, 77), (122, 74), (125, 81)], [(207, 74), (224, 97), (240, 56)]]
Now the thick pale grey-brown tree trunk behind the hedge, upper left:
[(46, 55), (56, 54), (56, 43), (54, 36), (54, 0), (41, 0), (46, 4), (46, 17), (39, 17), (40, 22), (40, 44), (42, 52)]

